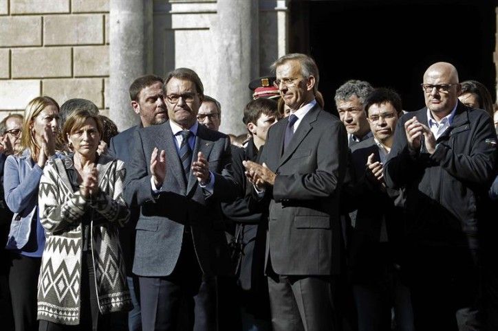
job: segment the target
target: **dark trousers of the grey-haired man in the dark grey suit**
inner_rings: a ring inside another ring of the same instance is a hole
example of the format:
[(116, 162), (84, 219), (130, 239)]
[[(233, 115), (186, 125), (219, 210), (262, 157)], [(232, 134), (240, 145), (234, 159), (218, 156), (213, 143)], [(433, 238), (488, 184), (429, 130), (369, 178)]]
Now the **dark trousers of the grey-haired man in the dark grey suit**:
[(338, 330), (332, 276), (268, 275), (274, 331)]

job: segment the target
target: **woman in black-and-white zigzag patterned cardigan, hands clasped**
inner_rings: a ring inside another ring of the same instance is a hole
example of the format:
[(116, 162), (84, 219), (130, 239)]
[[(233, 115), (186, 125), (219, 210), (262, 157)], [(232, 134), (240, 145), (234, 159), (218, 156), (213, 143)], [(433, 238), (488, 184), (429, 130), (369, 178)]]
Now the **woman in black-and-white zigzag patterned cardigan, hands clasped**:
[(91, 102), (79, 102), (63, 127), (74, 155), (50, 160), (41, 177), (47, 242), (38, 286), (40, 330), (106, 330), (106, 313), (131, 308), (118, 240), (118, 227), (129, 218), (125, 167), (97, 155), (102, 122), (84, 110)]

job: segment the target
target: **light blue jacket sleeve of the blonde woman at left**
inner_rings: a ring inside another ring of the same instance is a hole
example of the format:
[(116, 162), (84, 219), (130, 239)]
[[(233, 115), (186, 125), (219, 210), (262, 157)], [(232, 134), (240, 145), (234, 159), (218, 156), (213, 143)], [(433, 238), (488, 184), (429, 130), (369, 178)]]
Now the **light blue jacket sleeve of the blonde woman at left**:
[(22, 159), (10, 155), (3, 170), (6, 203), (12, 212), (19, 214), (24, 210), (31, 211), (36, 204), (36, 192), (43, 173), (39, 165), (35, 164), (23, 179), (19, 178), (19, 167), (24, 166), (22, 162)]

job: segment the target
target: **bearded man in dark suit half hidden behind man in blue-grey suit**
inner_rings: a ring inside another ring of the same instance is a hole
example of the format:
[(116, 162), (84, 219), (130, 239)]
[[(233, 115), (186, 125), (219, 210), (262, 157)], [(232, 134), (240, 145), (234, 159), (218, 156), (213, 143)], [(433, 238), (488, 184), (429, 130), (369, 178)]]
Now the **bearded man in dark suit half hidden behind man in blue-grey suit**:
[[(134, 80), (129, 88), (131, 106), (137, 115), (140, 115), (140, 124), (132, 126), (119, 135), (111, 138), (107, 154), (128, 164), (131, 161), (130, 146), (133, 141), (133, 133), (138, 128), (158, 125), (166, 122), (168, 112), (164, 104), (164, 93), (162, 90), (163, 80), (159, 76), (146, 75)], [(133, 302), (133, 310), (128, 312), (128, 330), (142, 330), (142, 318), (140, 316), (140, 286), (138, 277), (131, 271), (133, 266), (133, 254), (135, 253), (135, 227), (138, 221), (140, 208), (132, 207), (130, 221), (120, 229), (120, 243), (127, 266), (127, 281)], [(114, 321), (113, 321), (114, 323)], [(116, 321), (115, 327), (120, 321)]]

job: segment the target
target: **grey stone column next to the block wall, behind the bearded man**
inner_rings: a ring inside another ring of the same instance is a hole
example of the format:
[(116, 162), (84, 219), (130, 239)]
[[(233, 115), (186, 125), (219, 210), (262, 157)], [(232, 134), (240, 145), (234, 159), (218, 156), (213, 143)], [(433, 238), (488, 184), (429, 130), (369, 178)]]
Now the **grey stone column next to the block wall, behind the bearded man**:
[(119, 130), (138, 124), (128, 89), (151, 73), (153, 0), (111, 0), (109, 13), (109, 116)]

